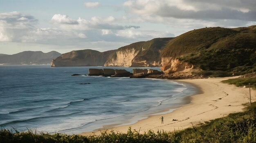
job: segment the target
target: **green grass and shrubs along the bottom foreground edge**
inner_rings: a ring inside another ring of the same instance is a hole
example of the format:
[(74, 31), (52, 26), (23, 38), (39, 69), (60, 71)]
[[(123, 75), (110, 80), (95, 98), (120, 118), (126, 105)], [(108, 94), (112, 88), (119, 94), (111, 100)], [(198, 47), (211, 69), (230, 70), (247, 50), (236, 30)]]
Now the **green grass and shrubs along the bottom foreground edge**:
[(202, 125), (174, 132), (148, 131), (141, 133), (131, 128), (127, 133), (114, 131), (101, 135), (81, 136), (77, 134), (48, 134), (0, 130), (3, 143), (255, 143), (256, 142), (256, 102), (247, 106), (242, 113), (232, 113), (227, 117), (206, 121)]

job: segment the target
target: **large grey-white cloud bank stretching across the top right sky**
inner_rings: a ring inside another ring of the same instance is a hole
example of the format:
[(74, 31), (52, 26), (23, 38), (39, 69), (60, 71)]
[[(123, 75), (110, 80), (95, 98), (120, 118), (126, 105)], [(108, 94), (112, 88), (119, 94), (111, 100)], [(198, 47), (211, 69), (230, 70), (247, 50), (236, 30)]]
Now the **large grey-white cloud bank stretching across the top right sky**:
[(255, 0), (129, 0), (123, 5), (141, 16), (256, 21)]

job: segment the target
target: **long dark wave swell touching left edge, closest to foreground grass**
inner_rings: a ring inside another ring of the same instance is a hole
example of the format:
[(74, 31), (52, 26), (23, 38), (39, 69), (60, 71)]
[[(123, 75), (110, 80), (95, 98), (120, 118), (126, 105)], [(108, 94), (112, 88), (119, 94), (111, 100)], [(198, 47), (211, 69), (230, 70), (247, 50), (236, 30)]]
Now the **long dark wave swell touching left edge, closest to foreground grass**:
[(74, 112), (74, 113), (69, 113), (69, 114), (62, 114), (62, 115), (39, 116), (39, 117), (34, 117), (34, 118), (24, 119), (24, 120), (14, 120), (14, 121), (9, 121), (9, 122), (4, 123), (4, 124), (0, 124), (0, 126), (6, 126), (8, 124), (22, 123), (22, 122), (27, 122), (27, 121), (34, 121), (36, 119), (45, 119), (45, 118), (51, 118), (51, 117), (66, 117), (66, 116), (74, 115), (74, 114), (77, 114), (77, 113), (81, 113), (81, 111)]

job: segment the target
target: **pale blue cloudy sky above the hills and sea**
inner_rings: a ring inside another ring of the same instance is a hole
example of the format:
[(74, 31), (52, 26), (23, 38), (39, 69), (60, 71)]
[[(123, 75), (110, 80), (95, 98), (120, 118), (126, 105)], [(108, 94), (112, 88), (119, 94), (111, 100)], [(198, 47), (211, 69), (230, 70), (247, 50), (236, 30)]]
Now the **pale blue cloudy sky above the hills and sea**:
[(256, 0), (0, 0), (0, 54), (100, 52), (204, 27), (256, 25)]

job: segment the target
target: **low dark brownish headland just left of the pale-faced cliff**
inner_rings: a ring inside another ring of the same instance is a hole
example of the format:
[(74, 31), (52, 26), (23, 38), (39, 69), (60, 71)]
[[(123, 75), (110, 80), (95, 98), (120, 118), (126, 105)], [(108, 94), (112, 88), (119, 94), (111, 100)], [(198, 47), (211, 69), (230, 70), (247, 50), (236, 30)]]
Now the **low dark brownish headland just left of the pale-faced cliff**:
[(52, 60), (52, 67), (103, 66), (109, 56), (115, 51), (99, 52), (89, 49), (71, 51)]

